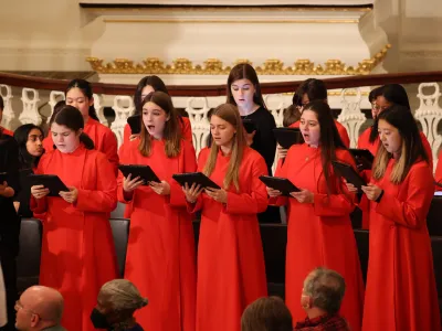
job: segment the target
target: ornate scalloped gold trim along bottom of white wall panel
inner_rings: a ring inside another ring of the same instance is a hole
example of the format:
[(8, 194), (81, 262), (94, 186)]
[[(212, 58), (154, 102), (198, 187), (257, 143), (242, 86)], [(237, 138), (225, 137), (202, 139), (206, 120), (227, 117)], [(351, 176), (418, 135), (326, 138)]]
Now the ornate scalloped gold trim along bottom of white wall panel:
[[(297, 60), (293, 66), (284, 66), (284, 63), (277, 58), (270, 58), (261, 66), (256, 66), (259, 75), (368, 75), (387, 56), (391, 47), (387, 44), (380, 52), (371, 58), (362, 60), (358, 66), (347, 66), (340, 60), (328, 60), (324, 65), (315, 65), (309, 60)], [(167, 64), (157, 57), (147, 57), (143, 63), (134, 64), (128, 58), (116, 58), (112, 63), (104, 63), (104, 60), (97, 57), (87, 57), (93, 71), (99, 74), (162, 74), (162, 75), (228, 75), (231, 66), (223, 66), (218, 58), (208, 58), (203, 65), (193, 65), (188, 58), (177, 58), (173, 64)], [(234, 64), (246, 62), (241, 58)]]

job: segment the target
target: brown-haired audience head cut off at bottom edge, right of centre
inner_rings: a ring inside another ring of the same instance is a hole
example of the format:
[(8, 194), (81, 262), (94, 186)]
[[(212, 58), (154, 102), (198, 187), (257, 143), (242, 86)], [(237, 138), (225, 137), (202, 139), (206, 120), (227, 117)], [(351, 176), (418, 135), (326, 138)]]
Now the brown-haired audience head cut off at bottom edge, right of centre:
[(245, 308), (241, 331), (292, 331), (292, 314), (277, 297), (260, 298)]

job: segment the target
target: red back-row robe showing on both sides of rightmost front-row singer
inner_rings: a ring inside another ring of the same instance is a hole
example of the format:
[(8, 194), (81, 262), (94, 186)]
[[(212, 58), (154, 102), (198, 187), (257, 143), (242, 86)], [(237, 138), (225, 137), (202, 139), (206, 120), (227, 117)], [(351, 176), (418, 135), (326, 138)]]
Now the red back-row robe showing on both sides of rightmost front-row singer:
[[(359, 149), (368, 149), (375, 157), (378, 152), (379, 146), (380, 146), (380, 140), (379, 136), (377, 136), (376, 140), (371, 143), (370, 142), (370, 132), (371, 132), (371, 127), (367, 128), (358, 139), (358, 148)], [(429, 157), (431, 169), (433, 169), (433, 153), (431, 150), (430, 142), (428, 141), (425, 135), (420, 131), (419, 132), (422, 139), (422, 145), (423, 148), (425, 149), (427, 156)], [(442, 167), (442, 164), (441, 164)], [(442, 169), (441, 169), (442, 171)], [(438, 172), (438, 170), (436, 170)], [(361, 171), (361, 175), (366, 180), (366, 182), (370, 182), (371, 180), (371, 170), (364, 170)], [(359, 204), (359, 209), (362, 211), (362, 228), (368, 229), (370, 227), (370, 212), (369, 212), (369, 202), (367, 200), (366, 195), (362, 195), (362, 199)]]

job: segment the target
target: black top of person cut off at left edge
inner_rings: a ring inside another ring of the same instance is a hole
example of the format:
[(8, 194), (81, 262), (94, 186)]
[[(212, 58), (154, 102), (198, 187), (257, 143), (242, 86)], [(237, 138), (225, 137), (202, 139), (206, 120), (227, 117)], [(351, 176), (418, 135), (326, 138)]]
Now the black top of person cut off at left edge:
[[(19, 147), (15, 140), (7, 135), (0, 137), (0, 172), (8, 173), (8, 185), (20, 191)], [(14, 197), (0, 195), (0, 249), (18, 253), (20, 218), (13, 206)]]

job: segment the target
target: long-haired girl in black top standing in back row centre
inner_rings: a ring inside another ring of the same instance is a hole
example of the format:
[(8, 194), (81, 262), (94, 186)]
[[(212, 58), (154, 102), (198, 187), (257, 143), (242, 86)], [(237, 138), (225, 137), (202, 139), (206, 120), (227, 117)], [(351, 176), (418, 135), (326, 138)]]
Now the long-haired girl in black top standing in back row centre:
[[(255, 131), (249, 134), (244, 130), (246, 142), (264, 158), (267, 172), (272, 174), (276, 151), (273, 129), (276, 128), (276, 122), (265, 106), (260, 81), (253, 66), (240, 63), (230, 71), (225, 103), (238, 107), (242, 120), (250, 119), (254, 122)], [(281, 223), (280, 210), (269, 206), (264, 213), (260, 213), (257, 218), (260, 223)]]

